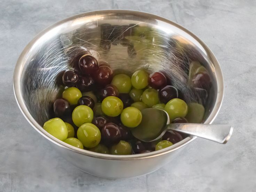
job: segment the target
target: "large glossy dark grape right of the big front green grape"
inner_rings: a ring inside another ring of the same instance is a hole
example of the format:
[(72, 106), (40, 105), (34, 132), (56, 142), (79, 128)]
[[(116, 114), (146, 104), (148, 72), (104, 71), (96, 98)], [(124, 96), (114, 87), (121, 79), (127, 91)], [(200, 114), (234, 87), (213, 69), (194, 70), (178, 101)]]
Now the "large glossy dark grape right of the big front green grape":
[(121, 140), (121, 131), (118, 125), (115, 123), (106, 123), (101, 130), (102, 142), (110, 146), (114, 143), (118, 143)]

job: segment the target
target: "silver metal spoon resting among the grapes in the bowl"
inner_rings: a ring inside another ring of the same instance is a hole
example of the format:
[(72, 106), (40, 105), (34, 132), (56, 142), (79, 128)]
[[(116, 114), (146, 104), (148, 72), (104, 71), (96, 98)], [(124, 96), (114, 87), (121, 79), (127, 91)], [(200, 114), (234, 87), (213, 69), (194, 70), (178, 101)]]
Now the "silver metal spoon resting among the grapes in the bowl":
[(161, 109), (147, 108), (141, 112), (142, 121), (139, 126), (131, 130), (131, 133), (144, 142), (155, 141), (162, 137), (166, 131), (175, 130), (225, 144), (233, 132), (233, 127), (230, 125), (170, 123), (168, 113)]

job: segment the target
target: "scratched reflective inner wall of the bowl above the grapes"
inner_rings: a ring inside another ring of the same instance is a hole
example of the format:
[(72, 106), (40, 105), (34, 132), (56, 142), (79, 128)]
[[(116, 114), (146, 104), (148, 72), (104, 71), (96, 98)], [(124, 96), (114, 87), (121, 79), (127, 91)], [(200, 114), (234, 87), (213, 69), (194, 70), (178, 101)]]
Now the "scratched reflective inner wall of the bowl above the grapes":
[[(39, 125), (53, 117), (53, 102), (63, 91), (58, 85), (61, 72), (76, 67), (75, 58), (87, 50), (99, 61), (108, 62), (116, 74), (131, 74), (138, 69), (167, 74), (186, 102), (205, 106), (204, 121), (216, 108), (219, 90), (222, 91), (217, 79), (222, 79), (222, 74), (216, 73), (217, 60), (204, 43), (167, 19), (136, 11), (106, 10), (58, 22), (24, 49), (17, 64), (22, 67), (16, 73), (24, 105)], [(212, 85), (208, 92), (193, 89), (187, 83), (193, 61), (199, 61), (210, 75)]]

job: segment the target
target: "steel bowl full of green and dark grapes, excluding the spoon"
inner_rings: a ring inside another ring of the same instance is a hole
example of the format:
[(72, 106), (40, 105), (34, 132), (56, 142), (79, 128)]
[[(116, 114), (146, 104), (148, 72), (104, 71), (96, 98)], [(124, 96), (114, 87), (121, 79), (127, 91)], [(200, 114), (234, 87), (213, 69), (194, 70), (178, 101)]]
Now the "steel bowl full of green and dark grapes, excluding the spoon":
[(141, 110), (211, 123), (223, 78), (213, 53), (182, 26), (105, 10), (67, 18), (35, 37), (17, 61), (14, 90), (26, 119), (63, 158), (96, 176), (127, 178), (157, 170), (196, 138), (169, 131), (162, 141), (138, 141), (131, 130)]

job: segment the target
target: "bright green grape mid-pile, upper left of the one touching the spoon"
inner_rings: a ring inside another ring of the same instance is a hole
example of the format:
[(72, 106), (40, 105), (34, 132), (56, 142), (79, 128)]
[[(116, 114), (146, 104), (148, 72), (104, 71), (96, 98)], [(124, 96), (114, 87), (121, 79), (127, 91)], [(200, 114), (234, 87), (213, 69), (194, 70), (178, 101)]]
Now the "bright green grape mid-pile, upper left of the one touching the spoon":
[(115, 96), (108, 96), (101, 104), (102, 112), (110, 117), (117, 117), (123, 110), (123, 102)]

